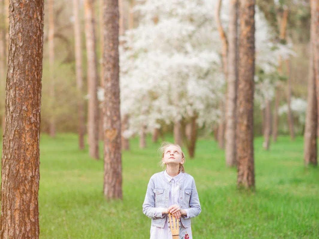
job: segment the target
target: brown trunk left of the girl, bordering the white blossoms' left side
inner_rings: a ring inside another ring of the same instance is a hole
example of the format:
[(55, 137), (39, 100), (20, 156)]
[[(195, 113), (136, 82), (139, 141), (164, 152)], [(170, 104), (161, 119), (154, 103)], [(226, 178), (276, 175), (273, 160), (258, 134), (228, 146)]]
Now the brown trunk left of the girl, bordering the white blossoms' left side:
[(122, 153), (119, 84), (119, 10), (117, 0), (104, 0), (104, 186), (106, 198), (122, 199)]

